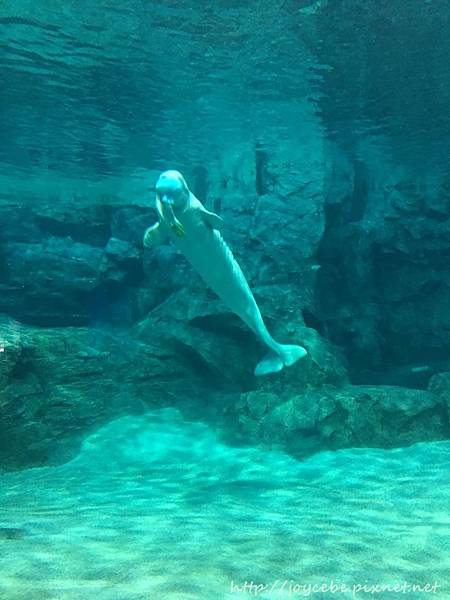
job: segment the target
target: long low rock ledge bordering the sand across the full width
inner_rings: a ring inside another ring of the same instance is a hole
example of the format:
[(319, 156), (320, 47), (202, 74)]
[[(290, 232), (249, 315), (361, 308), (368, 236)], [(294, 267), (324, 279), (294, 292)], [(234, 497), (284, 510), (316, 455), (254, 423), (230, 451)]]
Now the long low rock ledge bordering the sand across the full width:
[(1, 467), (63, 462), (113, 416), (168, 405), (211, 417), (233, 443), (297, 457), (449, 435), (444, 375), (435, 376), (430, 392), (348, 385), (335, 350), (314, 330), (291, 327), (290, 334), (303, 333), (307, 360), (261, 381), (252, 372), (261, 349), (251, 332), (218, 300), (200, 292), (194, 298), (174, 294), (131, 335), (2, 319)]

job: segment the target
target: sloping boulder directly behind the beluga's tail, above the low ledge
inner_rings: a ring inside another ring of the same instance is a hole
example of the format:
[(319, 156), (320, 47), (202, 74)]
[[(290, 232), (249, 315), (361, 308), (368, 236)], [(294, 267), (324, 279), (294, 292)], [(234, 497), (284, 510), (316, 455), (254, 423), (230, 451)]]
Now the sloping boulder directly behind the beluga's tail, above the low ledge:
[[(196, 274), (189, 278), (187, 270), (182, 280), (185, 285), (172, 293), (167, 291), (132, 328), (131, 336), (144, 343), (160, 344), (174, 355), (182, 356), (191, 365), (193, 376), (211, 382), (213, 390), (264, 387), (264, 382), (257, 382), (253, 376), (255, 364), (266, 352), (254, 333)], [(256, 288), (255, 297), (274, 337), (282, 343), (305, 345), (310, 354), (292, 369), (269, 376), (269, 386), (298, 388), (307, 383), (318, 385), (346, 380), (346, 369), (337, 349), (304, 325), (301, 301), (294, 312), (292, 307), (298, 302), (298, 296), (295, 297), (289, 286)]]

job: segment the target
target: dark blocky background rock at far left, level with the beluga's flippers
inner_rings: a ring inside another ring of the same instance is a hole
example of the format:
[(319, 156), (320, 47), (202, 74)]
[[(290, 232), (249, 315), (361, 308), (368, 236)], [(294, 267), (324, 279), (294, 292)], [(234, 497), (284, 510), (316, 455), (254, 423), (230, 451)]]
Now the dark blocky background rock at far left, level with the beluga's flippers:
[(131, 298), (149, 212), (70, 197), (0, 206), (0, 312), (36, 325), (85, 325), (99, 303), (114, 304), (118, 287)]

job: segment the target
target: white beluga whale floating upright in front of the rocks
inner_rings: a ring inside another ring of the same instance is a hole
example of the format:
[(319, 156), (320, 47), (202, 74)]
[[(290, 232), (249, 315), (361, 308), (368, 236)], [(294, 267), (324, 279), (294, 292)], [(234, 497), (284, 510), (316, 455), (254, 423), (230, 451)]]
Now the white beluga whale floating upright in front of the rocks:
[(270, 335), (244, 273), (222, 237), (223, 219), (203, 206), (179, 171), (159, 176), (156, 211), (158, 222), (145, 231), (144, 246), (151, 248), (170, 238), (205, 283), (268, 348), (255, 375), (276, 373), (306, 356), (303, 346), (279, 344)]

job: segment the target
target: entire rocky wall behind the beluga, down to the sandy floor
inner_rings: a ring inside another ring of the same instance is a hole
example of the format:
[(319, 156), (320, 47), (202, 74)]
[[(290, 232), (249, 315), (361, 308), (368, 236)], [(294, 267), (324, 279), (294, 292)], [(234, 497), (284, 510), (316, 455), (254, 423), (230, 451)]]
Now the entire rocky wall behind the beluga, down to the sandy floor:
[(417, 351), (432, 364), (448, 347), (448, 194), (424, 193), (399, 172), (369, 186), (374, 156), (352, 164), (339, 152), (325, 198), (323, 165), (300, 173), (283, 148), (259, 156), (258, 177), (251, 160), (218, 161), (200, 190), (219, 207), (273, 335), (308, 349), (265, 381), (253, 376), (263, 348), (183, 257), (170, 246), (143, 250), (150, 207), (2, 207), (0, 311), (51, 327), (101, 320), (103, 329), (3, 322), (0, 462), (64, 460), (111, 416), (185, 403), (201, 418), (213, 397), (231, 438), (237, 428), (296, 456), (448, 436), (443, 374), (429, 392), (349, 386), (347, 374), (386, 372), (386, 349), (395, 368), (416, 364)]

